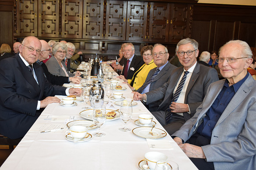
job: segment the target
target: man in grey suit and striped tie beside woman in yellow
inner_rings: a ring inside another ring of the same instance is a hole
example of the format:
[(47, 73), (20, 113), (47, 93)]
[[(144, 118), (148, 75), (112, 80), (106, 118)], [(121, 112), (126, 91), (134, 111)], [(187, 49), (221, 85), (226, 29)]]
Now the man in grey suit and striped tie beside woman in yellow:
[[(154, 55), (159, 52), (165, 52), (165, 54), (163, 54), (162, 56)], [(141, 94), (155, 90), (161, 87), (164, 83), (168, 82), (171, 76), (170, 73), (172, 72), (172, 70), (177, 68), (176, 66), (173, 66), (170, 62), (168, 62), (169, 53), (168, 49), (164, 45), (155, 44), (152, 53), (154, 63), (157, 67), (149, 71), (145, 83), (137, 90), (137, 92)], [(146, 106), (149, 111), (157, 111), (162, 101), (162, 99), (159, 99), (158, 101), (155, 101), (154, 103)]]

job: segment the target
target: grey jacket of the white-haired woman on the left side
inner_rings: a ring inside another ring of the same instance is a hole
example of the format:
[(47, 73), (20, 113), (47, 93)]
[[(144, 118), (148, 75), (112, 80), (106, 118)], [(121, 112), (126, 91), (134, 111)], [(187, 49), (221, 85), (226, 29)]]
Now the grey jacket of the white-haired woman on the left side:
[[(64, 66), (65, 70), (67, 71), (67, 67), (63, 61), (61, 61), (62, 65)], [(55, 59), (55, 57), (51, 57), (47, 62), (46, 66), (48, 71), (55, 75), (55, 76), (66, 76), (64, 70), (60, 67), (59, 62)], [(68, 76), (74, 76), (73, 73), (67, 72)]]

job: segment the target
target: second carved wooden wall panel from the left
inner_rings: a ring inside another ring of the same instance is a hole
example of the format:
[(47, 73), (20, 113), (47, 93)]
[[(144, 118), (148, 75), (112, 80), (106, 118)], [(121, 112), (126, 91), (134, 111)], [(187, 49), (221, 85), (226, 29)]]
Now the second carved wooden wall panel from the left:
[(38, 6), (38, 36), (57, 37), (59, 31), (58, 0), (40, 0)]

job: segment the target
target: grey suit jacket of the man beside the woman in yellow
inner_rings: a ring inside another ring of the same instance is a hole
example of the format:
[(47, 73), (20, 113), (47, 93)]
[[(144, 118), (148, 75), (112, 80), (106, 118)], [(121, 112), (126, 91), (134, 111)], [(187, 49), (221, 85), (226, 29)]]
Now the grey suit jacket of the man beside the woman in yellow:
[[(173, 66), (170, 62), (167, 62), (167, 64), (164, 66), (164, 68), (158, 73), (158, 75), (151, 82), (149, 91), (156, 90), (157, 88), (162, 87), (162, 85), (164, 85), (164, 83), (168, 82), (170, 80), (172, 71), (176, 68), (177, 68), (176, 66)], [(154, 69), (151, 69), (149, 71), (145, 82), (147, 82), (147, 80), (149, 80), (151, 78), (151, 76), (153, 76), (156, 69), (157, 69), (157, 67), (155, 67)], [(137, 91), (140, 93), (140, 90), (141, 90), (141, 87)], [(149, 111), (157, 111), (157, 109), (162, 101), (163, 101), (163, 99), (159, 99), (158, 101), (155, 101), (154, 103), (149, 104), (148, 110)]]

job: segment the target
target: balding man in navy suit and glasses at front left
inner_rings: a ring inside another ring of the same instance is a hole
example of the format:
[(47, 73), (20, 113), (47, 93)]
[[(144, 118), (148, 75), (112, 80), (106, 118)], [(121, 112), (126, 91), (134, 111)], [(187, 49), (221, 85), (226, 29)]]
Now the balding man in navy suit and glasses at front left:
[[(59, 103), (54, 95), (81, 95), (80, 89), (52, 85), (37, 63), (41, 42), (24, 38), (20, 53), (0, 62), (0, 134), (10, 139), (23, 137), (50, 103)], [(46, 98), (44, 98), (46, 97)]]

